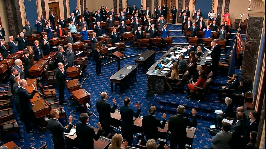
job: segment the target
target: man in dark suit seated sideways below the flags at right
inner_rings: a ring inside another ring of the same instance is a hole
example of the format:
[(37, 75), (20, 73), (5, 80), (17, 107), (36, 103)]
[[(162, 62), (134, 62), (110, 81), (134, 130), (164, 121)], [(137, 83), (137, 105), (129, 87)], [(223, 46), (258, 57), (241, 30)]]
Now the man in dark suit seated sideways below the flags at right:
[(233, 74), (232, 79), (233, 79), (233, 81), (231, 84), (219, 87), (219, 92), (218, 92), (219, 93), (219, 95), (218, 95), (219, 100), (215, 101), (215, 102), (217, 102), (217, 103), (223, 102), (223, 99), (222, 99), (223, 93), (227, 93), (227, 96), (230, 94), (232, 95), (232, 91), (227, 90), (227, 89), (237, 89), (238, 88), (238, 86), (239, 86), (238, 74)]

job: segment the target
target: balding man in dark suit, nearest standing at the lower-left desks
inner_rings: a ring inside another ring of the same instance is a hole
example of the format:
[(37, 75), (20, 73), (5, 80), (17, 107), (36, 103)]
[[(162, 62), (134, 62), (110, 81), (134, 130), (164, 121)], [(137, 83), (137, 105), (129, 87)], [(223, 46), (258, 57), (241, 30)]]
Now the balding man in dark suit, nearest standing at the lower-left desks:
[(35, 86), (32, 84), (33, 91), (31, 94), (28, 94), (28, 91), (25, 89), (26, 86), (28, 86), (27, 81), (22, 79), (19, 81), (20, 88), (18, 89), (18, 96), (20, 99), (20, 119), (22, 122), (24, 122), (26, 132), (27, 133), (33, 133), (35, 131), (31, 130), (31, 122), (34, 119), (34, 112), (32, 110), (32, 104), (30, 102), (30, 99), (33, 98), (34, 94), (37, 92), (37, 89), (35, 89)]

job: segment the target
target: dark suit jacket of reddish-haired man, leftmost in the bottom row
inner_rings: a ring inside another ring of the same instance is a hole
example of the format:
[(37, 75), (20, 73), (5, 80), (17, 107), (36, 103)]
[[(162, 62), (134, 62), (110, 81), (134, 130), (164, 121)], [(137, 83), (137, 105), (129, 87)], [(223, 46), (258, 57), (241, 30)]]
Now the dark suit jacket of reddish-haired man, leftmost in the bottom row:
[(50, 132), (52, 134), (52, 138), (53, 138), (53, 142), (54, 145), (56, 146), (61, 146), (61, 147), (65, 147), (65, 133), (69, 133), (71, 128), (73, 127), (73, 125), (68, 124), (67, 129), (65, 127), (63, 127), (63, 125), (54, 118), (50, 118), (48, 120), (48, 126), (50, 129)]

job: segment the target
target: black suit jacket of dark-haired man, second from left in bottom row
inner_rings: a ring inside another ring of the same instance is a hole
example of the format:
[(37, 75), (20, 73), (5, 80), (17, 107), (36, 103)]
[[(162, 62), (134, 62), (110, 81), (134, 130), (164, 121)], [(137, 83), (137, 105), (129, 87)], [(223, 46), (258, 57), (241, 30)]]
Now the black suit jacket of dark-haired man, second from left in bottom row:
[(94, 148), (93, 139), (98, 140), (103, 130), (99, 129), (97, 134), (95, 134), (94, 129), (88, 124), (77, 122), (76, 123), (76, 133), (79, 140), (79, 148)]

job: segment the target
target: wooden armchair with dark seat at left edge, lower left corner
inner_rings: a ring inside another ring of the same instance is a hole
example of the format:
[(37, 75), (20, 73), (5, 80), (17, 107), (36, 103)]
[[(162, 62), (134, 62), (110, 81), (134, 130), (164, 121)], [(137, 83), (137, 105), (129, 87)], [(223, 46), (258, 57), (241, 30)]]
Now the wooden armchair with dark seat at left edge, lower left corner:
[[(3, 122), (3, 119), (9, 119), (6, 122)], [(0, 117), (0, 131), (1, 135), (4, 137), (4, 142), (6, 141), (6, 135), (13, 134), (13, 133), (18, 133), (19, 139), (21, 139), (20, 136), (20, 130), (18, 123), (15, 119), (12, 119), (12, 115), (6, 115), (3, 117)]]

